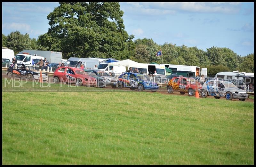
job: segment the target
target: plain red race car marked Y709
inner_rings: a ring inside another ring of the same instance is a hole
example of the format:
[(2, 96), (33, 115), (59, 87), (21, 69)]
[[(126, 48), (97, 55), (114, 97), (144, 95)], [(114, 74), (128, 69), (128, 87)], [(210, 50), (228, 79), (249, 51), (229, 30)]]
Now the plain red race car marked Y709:
[(78, 86), (96, 86), (97, 81), (93, 76), (89, 76), (83, 69), (75, 67), (59, 67), (53, 74), (53, 82), (76, 83)]

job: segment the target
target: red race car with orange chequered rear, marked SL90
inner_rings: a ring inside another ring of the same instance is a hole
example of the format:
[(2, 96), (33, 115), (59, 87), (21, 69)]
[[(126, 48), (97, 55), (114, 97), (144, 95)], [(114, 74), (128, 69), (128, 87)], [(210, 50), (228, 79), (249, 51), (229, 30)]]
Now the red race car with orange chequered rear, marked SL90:
[(173, 77), (166, 86), (168, 93), (179, 91), (180, 94), (188, 93), (189, 96), (194, 96), (196, 89), (201, 91), (202, 85), (194, 78)]

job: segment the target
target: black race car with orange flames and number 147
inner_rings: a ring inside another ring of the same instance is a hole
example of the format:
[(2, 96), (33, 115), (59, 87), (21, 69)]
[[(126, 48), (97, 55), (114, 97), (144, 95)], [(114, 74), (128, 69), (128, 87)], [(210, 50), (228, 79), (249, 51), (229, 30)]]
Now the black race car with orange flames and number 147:
[[(20, 63), (14, 63), (12, 64), (6, 72), (7, 76), (9, 78), (16, 76), (16, 77), (25, 77), (29, 81), (32, 81), (34, 79), (40, 78), (40, 71), (38, 68), (31, 64), (20, 64)], [(48, 80), (47, 73), (42, 72), (42, 79), (43, 81)]]

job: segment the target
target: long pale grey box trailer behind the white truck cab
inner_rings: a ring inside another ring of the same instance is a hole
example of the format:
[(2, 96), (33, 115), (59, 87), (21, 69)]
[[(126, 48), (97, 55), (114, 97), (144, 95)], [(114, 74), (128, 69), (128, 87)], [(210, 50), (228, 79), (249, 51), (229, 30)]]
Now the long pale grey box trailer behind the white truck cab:
[(33, 56), (43, 56), (50, 63), (59, 63), (59, 62), (61, 62), (61, 58), (62, 58), (62, 52), (23, 50), (19, 54), (22, 54), (23, 52), (29, 53)]

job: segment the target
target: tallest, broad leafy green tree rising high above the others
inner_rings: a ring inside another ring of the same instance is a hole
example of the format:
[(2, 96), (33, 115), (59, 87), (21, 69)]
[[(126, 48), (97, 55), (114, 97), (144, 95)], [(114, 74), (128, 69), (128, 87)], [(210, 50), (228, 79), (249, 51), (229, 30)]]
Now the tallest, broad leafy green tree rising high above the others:
[[(117, 2), (60, 2), (60, 6), (47, 16), (50, 38), (42, 36), (47, 40), (41, 44), (49, 49), (60, 47), (67, 57), (75, 53), (77, 57), (97, 54), (121, 58), (129, 47), (123, 14)], [(52, 46), (56, 40), (57, 47)]]

